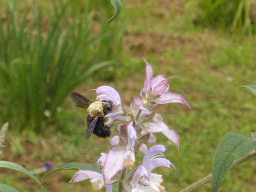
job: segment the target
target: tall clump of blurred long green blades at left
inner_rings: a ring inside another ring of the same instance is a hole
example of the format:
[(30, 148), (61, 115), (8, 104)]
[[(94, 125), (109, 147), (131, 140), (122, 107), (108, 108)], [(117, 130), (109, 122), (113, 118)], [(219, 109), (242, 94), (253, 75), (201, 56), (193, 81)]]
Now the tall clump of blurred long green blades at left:
[(39, 131), (70, 91), (113, 63), (102, 62), (111, 59), (106, 48), (114, 49), (102, 44), (116, 29), (94, 30), (90, 1), (79, 6), (52, 0), (50, 8), (6, 2), (0, 20), (0, 121)]

